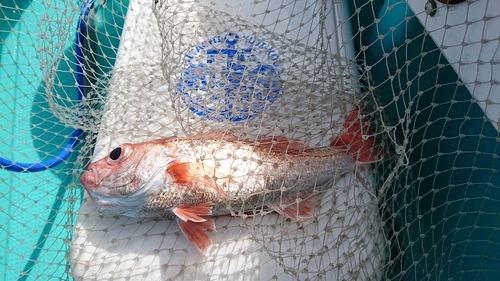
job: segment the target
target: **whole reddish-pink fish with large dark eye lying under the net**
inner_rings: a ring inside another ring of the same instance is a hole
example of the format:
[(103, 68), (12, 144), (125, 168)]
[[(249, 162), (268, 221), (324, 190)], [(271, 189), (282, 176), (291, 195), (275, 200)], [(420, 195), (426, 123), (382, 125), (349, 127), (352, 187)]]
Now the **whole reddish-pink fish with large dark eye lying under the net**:
[(330, 146), (285, 136), (256, 141), (230, 134), (125, 143), (90, 164), (80, 182), (99, 212), (175, 219), (201, 252), (214, 217), (277, 212), (303, 222), (335, 178), (386, 155), (359, 108)]

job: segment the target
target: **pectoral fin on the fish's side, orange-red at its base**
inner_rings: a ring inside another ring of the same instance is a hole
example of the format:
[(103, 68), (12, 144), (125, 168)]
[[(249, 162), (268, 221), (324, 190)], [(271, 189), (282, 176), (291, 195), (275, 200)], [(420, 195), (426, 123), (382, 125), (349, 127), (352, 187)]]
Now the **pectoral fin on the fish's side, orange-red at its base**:
[(215, 168), (204, 165), (203, 163), (181, 163), (174, 162), (167, 168), (169, 173), (175, 179), (175, 183), (192, 185), (201, 183), (209, 186), (220, 193), (224, 198), (231, 200), (229, 195), (220, 188), (217, 180), (222, 182), (234, 182), (230, 177), (218, 173)]

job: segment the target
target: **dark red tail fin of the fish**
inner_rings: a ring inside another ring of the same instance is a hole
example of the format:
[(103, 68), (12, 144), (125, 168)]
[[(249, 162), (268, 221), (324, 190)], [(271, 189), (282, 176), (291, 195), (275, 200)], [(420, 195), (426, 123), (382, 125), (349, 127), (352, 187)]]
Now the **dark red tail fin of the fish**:
[[(370, 127), (370, 120), (361, 119), (360, 114), (358, 107), (349, 113), (344, 123), (347, 131), (335, 138), (331, 145), (347, 148), (348, 153), (355, 154), (359, 162), (376, 162), (383, 156), (382, 147)], [(367, 139), (363, 139), (363, 136)]]

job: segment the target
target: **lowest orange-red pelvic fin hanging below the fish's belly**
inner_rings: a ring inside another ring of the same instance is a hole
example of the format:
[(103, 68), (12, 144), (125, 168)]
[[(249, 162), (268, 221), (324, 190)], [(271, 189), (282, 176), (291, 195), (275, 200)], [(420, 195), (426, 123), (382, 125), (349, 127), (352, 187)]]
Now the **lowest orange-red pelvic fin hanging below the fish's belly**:
[(201, 252), (204, 252), (212, 244), (212, 240), (205, 233), (207, 230), (215, 230), (215, 223), (212, 219), (207, 218), (204, 222), (183, 221), (179, 219), (177, 223), (186, 238), (194, 243)]

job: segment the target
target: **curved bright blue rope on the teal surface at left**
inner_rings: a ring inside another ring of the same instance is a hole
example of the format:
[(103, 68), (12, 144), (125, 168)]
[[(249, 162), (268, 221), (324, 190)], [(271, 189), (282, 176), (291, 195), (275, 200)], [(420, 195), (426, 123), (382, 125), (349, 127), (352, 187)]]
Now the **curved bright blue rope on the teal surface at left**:
[[(84, 34), (87, 28), (86, 20), (92, 6), (94, 5), (95, 0), (87, 0), (80, 10), (80, 17), (78, 19), (77, 32), (76, 32), (76, 82), (78, 83), (78, 103), (79, 108), (81, 109), (81, 102), (83, 97), (83, 44), (84, 44)], [(78, 118), (81, 118), (79, 115)], [(50, 158), (48, 160), (37, 162), (37, 163), (22, 163), (22, 162), (14, 162), (10, 159), (0, 157), (0, 168), (15, 171), (15, 172), (39, 172), (44, 171), (46, 169), (52, 168), (61, 162), (63, 162), (68, 156), (71, 154), (73, 149), (78, 144), (78, 138), (82, 134), (81, 129), (75, 129), (71, 134), (68, 142), (64, 146), (64, 148), (57, 154), (55, 157)]]

